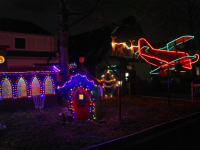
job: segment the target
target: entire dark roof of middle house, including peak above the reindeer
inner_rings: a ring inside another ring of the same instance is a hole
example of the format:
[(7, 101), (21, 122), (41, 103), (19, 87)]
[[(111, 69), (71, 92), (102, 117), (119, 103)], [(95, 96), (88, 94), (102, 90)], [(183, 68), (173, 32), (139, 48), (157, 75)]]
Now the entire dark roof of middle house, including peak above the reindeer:
[(69, 61), (78, 63), (78, 57), (84, 56), (86, 66), (98, 65), (106, 55), (111, 55), (111, 35), (117, 36), (116, 42), (127, 42), (127, 45), (130, 45), (129, 39), (137, 41), (139, 38), (145, 37), (143, 30), (139, 24), (136, 24), (133, 16), (121, 22), (121, 25), (114, 30), (107, 26), (70, 37)]

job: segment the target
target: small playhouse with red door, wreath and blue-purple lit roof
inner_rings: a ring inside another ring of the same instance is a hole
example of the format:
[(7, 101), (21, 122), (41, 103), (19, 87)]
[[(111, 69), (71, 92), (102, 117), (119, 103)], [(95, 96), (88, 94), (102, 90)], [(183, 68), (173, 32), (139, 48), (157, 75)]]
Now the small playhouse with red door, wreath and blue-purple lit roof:
[(75, 69), (57, 88), (61, 90), (64, 103), (74, 120), (93, 121), (101, 118), (101, 81), (86, 70)]

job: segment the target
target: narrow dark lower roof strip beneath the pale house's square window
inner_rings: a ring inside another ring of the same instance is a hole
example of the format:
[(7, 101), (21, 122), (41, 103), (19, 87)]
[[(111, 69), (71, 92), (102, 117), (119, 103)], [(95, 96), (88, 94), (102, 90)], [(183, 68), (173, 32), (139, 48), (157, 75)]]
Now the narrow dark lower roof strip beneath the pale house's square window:
[(8, 50), (7, 56), (15, 57), (57, 57), (56, 52), (36, 52), (36, 51), (19, 51)]

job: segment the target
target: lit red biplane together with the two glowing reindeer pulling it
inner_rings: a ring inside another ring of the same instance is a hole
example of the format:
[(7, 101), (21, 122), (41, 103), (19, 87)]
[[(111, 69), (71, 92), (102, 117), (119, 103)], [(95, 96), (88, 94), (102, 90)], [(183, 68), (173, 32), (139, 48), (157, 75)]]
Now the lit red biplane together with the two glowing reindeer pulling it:
[(165, 47), (156, 49), (153, 48), (146, 39), (140, 38), (138, 40), (138, 45), (134, 45), (134, 40), (129, 40), (131, 46), (126, 45), (125, 42), (116, 43), (116, 37), (111, 36), (112, 38), (112, 56), (116, 53), (118, 56), (125, 54), (125, 50), (131, 50), (131, 58), (135, 54), (135, 58), (140, 56), (147, 63), (156, 66), (157, 68), (152, 70), (150, 74), (160, 74), (165, 77), (167, 75), (166, 71), (169, 70), (186, 72), (186, 70), (192, 69), (192, 64), (196, 63), (199, 60), (199, 54), (190, 56), (185, 51), (177, 50), (177, 46), (184, 44), (185, 42), (194, 38), (191, 35), (181, 36), (175, 40), (170, 41), (166, 44)]

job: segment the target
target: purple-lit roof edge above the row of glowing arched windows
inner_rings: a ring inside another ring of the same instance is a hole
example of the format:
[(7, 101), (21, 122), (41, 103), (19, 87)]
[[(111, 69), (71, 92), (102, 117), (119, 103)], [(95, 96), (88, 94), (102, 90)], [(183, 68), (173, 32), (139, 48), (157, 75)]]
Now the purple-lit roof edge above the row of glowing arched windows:
[(54, 66), (26, 66), (26, 67), (8, 67), (0, 69), (0, 75), (2, 74), (46, 74), (46, 73), (59, 73), (58, 70)]

